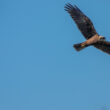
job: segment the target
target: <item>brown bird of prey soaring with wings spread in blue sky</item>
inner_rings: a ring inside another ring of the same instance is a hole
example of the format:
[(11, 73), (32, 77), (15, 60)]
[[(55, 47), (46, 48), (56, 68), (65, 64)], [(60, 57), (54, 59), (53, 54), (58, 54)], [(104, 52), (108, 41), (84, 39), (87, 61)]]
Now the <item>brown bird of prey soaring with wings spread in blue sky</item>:
[(70, 14), (83, 36), (87, 39), (85, 42), (73, 45), (77, 51), (88, 46), (94, 46), (110, 54), (110, 42), (96, 32), (91, 20), (76, 5), (73, 6), (68, 3), (65, 5), (65, 10)]

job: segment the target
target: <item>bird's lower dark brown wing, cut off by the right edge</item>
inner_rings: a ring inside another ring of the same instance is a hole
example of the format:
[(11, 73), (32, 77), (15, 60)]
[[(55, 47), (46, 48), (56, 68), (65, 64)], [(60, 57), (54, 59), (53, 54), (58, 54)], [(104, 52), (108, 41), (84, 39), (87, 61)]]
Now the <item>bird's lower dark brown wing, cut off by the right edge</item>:
[(103, 52), (106, 52), (106, 53), (110, 54), (110, 42), (99, 41), (94, 46), (96, 48), (102, 50)]

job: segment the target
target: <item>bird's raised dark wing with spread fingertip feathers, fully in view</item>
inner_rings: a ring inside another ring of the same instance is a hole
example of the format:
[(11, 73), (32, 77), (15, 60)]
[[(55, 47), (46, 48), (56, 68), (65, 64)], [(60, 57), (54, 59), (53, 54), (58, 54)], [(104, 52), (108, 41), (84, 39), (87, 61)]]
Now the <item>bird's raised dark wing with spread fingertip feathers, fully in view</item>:
[(65, 10), (71, 15), (79, 30), (86, 39), (89, 39), (97, 34), (91, 20), (86, 15), (84, 15), (84, 13), (81, 12), (81, 10), (77, 6), (66, 4)]

